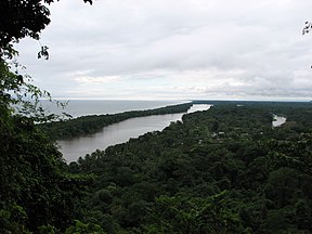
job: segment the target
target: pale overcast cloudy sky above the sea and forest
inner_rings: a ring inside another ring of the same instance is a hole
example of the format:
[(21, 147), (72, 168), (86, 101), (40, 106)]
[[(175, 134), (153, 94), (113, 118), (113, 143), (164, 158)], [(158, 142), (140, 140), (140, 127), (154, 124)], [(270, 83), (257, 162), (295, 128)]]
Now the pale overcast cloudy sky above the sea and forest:
[[(312, 100), (311, 0), (62, 0), (16, 49), (55, 99)], [(38, 60), (40, 43), (50, 58)]]

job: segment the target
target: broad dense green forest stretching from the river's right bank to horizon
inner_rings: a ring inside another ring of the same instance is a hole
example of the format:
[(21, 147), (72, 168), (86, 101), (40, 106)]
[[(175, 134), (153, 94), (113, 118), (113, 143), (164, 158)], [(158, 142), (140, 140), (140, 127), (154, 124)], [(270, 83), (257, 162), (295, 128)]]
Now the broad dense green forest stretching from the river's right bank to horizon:
[[(219, 103), (69, 165), (107, 233), (311, 233), (311, 104)], [(287, 122), (272, 129), (272, 113)]]

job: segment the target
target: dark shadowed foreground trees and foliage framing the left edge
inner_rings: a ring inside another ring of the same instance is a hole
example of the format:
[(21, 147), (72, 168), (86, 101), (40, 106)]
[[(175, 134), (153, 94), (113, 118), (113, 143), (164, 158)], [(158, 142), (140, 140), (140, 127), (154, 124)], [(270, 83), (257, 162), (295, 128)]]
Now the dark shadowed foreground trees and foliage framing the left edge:
[[(39, 40), (53, 1), (0, 1), (0, 233), (38, 232), (50, 224), (64, 231), (89, 180), (68, 173), (62, 154), (38, 130), (36, 122), (55, 117), (38, 105), (40, 98), (51, 100), (50, 93), (30, 84), (12, 62), (18, 55), (14, 43), (25, 37)], [(47, 50), (42, 47), (38, 56), (48, 58)]]

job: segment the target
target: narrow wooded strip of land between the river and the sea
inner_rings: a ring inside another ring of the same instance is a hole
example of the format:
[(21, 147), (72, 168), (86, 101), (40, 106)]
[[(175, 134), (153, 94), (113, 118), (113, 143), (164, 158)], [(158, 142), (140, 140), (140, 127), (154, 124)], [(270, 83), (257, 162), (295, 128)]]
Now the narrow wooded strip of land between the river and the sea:
[(66, 138), (74, 138), (78, 135), (92, 134), (100, 131), (102, 128), (106, 126), (120, 122), (130, 118), (152, 116), (152, 115), (185, 113), (192, 105), (193, 103), (190, 102), (155, 109), (130, 110), (118, 114), (81, 116), (74, 119), (44, 123), (41, 125), (40, 128), (51, 139), (60, 140)]

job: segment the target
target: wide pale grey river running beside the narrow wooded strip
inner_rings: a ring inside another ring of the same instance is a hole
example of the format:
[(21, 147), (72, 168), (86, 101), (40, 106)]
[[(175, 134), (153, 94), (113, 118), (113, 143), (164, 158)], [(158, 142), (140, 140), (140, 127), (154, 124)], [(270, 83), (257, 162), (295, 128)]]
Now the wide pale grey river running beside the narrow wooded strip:
[[(193, 105), (187, 113), (205, 110), (211, 105)], [(130, 138), (138, 138), (146, 132), (161, 131), (172, 121), (182, 119), (186, 113), (155, 115), (139, 118), (131, 118), (107, 127), (102, 131), (79, 138), (57, 141), (60, 151), (67, 162), (76, 161), (80, 156), (86, 156), (95, 150), (127, 142)]]

